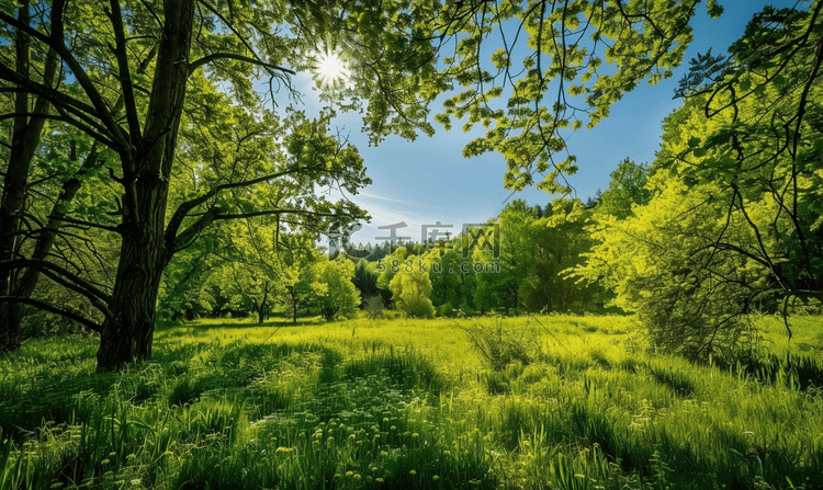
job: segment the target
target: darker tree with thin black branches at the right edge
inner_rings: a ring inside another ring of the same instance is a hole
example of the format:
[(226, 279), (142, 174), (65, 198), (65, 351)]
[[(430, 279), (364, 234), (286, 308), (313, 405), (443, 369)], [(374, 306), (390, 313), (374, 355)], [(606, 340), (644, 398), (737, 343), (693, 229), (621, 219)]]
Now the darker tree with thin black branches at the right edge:
[(752, 298), (771, 296), (783, 315), (796, 299), (823, 299), (822, 14), (819, 1), (809, 10), (767, 7), (729, 57), (692, 59), (679, 89), (690, 107), (687, 145), (668, 141), (664, 155), (686, 182), (720, 186), (726, 219), (745, 223), (753, 246), (735, 247), (721, 229), (712, 249), (759, 264)]

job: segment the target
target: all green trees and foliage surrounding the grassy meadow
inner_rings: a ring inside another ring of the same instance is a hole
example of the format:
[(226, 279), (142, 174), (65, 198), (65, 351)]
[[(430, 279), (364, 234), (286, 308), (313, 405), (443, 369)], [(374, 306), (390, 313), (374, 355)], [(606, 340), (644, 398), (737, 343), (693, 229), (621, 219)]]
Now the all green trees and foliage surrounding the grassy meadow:
[[(661, 349), (733, 349), (749, 315), (823, 297), (820, 1), (767, 7), (728, 55), (691, 59), (656, 160), (623, 162), (591, 203), (515, 202), (497, 249), (383, 258), (413, 271), (315, 248), (368, 217), (329, 192), (371, 183), (339, 112), (373, 144), (480, 125), (464, 156), (568, 195), (567, 136), (673, 75), (697, 3), (4, 1), (0, 350), (84, 329), (116, 369), (150, 357), (160, 317), (336, 318), (376, 297), (413, 316), (620, 308)], [(317, 79), (317, 117), (274, 103), (329, 52), (348, 76)]]

